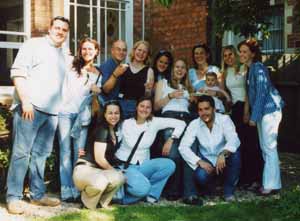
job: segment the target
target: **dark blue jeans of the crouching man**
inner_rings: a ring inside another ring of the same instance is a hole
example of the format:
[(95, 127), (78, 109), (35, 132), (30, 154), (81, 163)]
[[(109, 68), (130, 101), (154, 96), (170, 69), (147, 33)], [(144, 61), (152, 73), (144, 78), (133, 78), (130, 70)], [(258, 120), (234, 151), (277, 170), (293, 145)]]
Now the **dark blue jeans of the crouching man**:
[[(205, 157), (200, 156), (202, 160), (210, 163)], [(223, 173), (224, 176), (224, 196), (229, 197), (234, 194), (235, 187), (239, 181), (241, 159), (240, 150), (238, 149), (235, 153), (230, 154), (226, 159), (226, 167)], [(217, 177), (216, 173), (213, 172), (208, 174), (206, 170), (201, 167), (196, 168), (194, 171), (196, 183), (206, 189), (211, 189), (212, 185)]]

